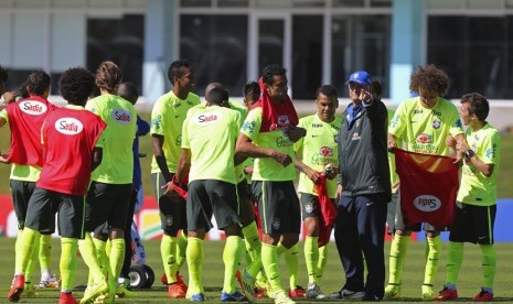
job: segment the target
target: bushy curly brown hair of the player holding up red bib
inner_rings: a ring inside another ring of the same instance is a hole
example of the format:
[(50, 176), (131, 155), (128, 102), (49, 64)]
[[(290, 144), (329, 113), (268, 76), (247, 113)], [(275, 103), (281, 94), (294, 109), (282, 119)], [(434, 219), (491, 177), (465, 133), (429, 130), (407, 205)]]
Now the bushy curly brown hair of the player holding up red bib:
[(409, 89), (418, 91), (421, 87), (428, 91), (436, 91), (438, 96), (445, 96), (450, 87), (450, 78), (446, 72), (439, 69), (432, 64), (418, 66), (417, 70), (412, 74)]

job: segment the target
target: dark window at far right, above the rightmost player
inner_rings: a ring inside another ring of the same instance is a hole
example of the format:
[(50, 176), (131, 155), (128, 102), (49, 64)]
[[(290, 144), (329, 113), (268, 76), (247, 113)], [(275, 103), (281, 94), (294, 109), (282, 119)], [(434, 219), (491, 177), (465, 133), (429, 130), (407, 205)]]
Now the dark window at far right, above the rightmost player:
[(513, 17), (430, 17), (428, 63), (452, 78), (450, 98), (513, 98)]

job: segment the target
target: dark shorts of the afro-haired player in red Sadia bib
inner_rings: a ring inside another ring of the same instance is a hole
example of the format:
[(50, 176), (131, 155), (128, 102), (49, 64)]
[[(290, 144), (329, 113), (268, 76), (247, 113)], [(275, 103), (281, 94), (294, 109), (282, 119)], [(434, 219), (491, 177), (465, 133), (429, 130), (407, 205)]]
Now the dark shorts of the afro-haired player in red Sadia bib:
[(64, 238), (84, 238), (84, 196), (35, 188), (29, 202), (25, 227), (50, 235), (55, 231), (57, 214), (58, 235)]

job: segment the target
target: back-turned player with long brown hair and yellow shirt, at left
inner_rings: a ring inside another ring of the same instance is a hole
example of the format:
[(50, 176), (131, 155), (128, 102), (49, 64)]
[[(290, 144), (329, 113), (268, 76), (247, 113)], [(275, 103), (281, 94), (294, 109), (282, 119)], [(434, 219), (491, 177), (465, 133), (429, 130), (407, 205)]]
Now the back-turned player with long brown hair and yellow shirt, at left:
[[(95, 79), (100, 95), (86, 104), (86, 109), (101, 118), (107, 128), (103, 133), (103, 161), (92, 174), (86, 197), (85, 229), (87, 232), (95, 231), (107, 222), (110, 251), (106, 252), (107, 239), (96, 231), (94, 240), (86, 234), (85, 240), (81, 241), (81, 253), (93, 278), (82, 303), (113, 303), (125, 260), (125, 229), (132, 193), (131, 148), (137, 131), (137, 115), (130, 101), (116, 95), (121, 79), (121, 70), (115, 63), (103, 62), (96, 70)], [(96, 257), (99, 260), (95, 260)], [(108, 285), (100, 265), (107, 269)]]

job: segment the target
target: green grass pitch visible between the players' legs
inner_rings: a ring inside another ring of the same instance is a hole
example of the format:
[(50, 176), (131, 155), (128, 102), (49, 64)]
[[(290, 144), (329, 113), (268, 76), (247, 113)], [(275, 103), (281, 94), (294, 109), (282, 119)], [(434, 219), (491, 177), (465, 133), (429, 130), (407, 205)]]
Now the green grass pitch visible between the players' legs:
[[(12, 273), (14, 271), (14, 240), (13, 239), (1, 239), (0, 254), (3, 257), (1, 263), (6, 265), (6, 269), (0, 272), (0, 291), (2, 297), (0, 303), (8, 303), (7, 293), (10, 285)], [(211, 241), (205, 243), (205, 265), (204, 265), (204, 285), (206, 290), (206, 300), (207, 302), (214, 303), (220, 302), (218, 296), (221, 294), (221, 289), (223, 284), (223, 262), (222, 262), (222, 250), (224, 242), (221, 241)], [(324, 293), (331, 293), (335, 290), (339, 290), (341, 285), (344, 284), (344, 273), (339, 261), (336, 253), (336, 248), (334, 242), (330, 245), (330, 257), (328, 260), (328, 265), (325, 268), (324, 278), (321, 282), (321, 286)], [(163, 273), (163, 269), (160, 261), (160, 242), (159, 241), (146, 241), (145, 247), (148, 253), (148, 265), (150, 265), (154, 272), (156, 276), (160, 278)], [(303, 286), (307, 285), (307, 271), (304, 265), (304, 259), (302, 254), (302, 243), (300, 243), (300, 264), (299, 264), (299, 282)], [(54, 240), (53, 247), (53, 268), (54, 272), (58, 272), (58, 250), (61, 248), (58, 240)], [(385, 247), (385, 256), (388, 253), (389, 242)], [(513, 289), (512, 289), (512, 273), (513, 273), (513, 263), (511, 263), (511, 254), (513, 252), (513, 245), (510, 243), (498, 243), (498, 267), (496, 267), (496, 276), (495, 276), (495, 301), (499, 302), (513, 302)], [(440, 261), (439, 273), (437, 276), (437, 282), (435, 285), (436, 290), (441, 289), (445, 282), (445, 264), (447, 258), (447, 243), (443, 243), (442, 247), (442, 257)], [(387, 262), (387, 259), (385, 259)], [(284, 286), (288, 286), (288, 281), (286, 281), (287, 271), (285, 263), (280, 265), (281, 279)], [(184, 278), (186, 275), (186, 265), (182, 268), (182, 273)], [(36, 265), (36, 271), (34, 273), (34, 281), (39, 282), (39, 265)], [(156, 283), (152, 289), (139, 291), (139, 296), (137, 298), (118, 298), (116, 303), (182, 303), (185, 301), (180, 300), (170, 300), (165, 297), (165, 289), (160, 284), (159, 279), (156, 279)], [(418, 302), (420, 296), (420, 285), (424, 279), (424, 242), (412, 242), (409, 248), (408, 258), (404, 268), (403, 275), (403, 302)], [(78, 271), (76, 275), (76, 284), (85, 284), (87, 280), (86, 267), (84, 265), (82, 259), (78, 261)], [(473, 297), (481, 286), (481, 261), (480, 261), (480, 251), (477, 246), (466, 245), (466, 254), (463, 259), (463, 265), (460, 271), (459, 282), (458, 282), (458, 293), (460, 295), (460, 301), (470, 301), (470, 297)], [(76, 297), (82, 296), (82, 292), (75, 292)], [(58, 291), (54, 290), (44, 290), (41, 292), (39, 298), (22, 298), (24, 303), (51, 303), (56, 302), (58, 298)], [(259, 300), (259, 303), (272, 303), (271, 300), (265, 298)], [(301, 303), (308, 303), (306, 300), (300, 301)], [(321, 301), (310, 301), (310, 303), (321, 302)]]

